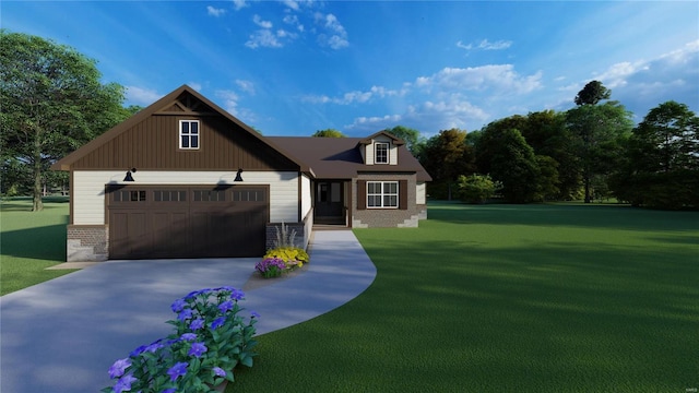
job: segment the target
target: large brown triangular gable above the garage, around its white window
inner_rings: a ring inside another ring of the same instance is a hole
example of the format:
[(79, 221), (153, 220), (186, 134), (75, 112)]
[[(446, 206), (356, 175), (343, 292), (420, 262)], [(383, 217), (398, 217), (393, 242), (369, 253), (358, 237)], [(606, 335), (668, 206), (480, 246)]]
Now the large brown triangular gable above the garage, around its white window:
[[(199, 120), (201, 146), (179, 148), (179, 120)], [(307, 166), (183, 85), (54, 165), (54, 169), (303, 170)]]

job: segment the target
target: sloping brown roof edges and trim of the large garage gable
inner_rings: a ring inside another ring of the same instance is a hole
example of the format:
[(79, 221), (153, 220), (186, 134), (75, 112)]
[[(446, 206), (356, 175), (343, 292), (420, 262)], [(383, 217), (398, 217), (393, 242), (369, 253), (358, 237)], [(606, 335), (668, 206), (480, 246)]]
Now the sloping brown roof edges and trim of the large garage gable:
[(228, 121), (233, 122), (234, 124), (238, 126), (240, 129), (242, 129), (245, 132), (247, 132), (253, 139), (257, 139), (261, 143), (268, 145), (273, 151), (280, 153), (282, 156), (284, 156), (285, 158), (289, 159), (295, 165), (298, 165), (301, 171), (305, 171), (305, 172), (309, 172), (310, 171), (310, 168), (308, 167), (308, 165), (305, 164), (305, 162), (298, 159), (297, 157), (291, 155), (289, 153), (283, 151), (279, 146), (274, 145), (269, 139), (264, 138), (259, 132), (254, 131), (253, 129), (248, 127), (246, 123), (244, 123), (242, 121), (238, 120), (236, 117), (234, 117), (233, 115), (228, 114), (226, 110), (222, 109), (216, 104), (212, 103), (206, 97), (204, 97), (199, 92), (194, 91), (193, 88), (191, 88), (188, 85), (182, 85), (182, 86), (178, 87), (177, 90), (175, 90), (171, 93), (167, 94), (163, 98), (158, 99), (157, 102), (155, 102), (152, 105), (147, 106), (146, 108), (142, 109), (138, 114), (131, 116), (129, 119), (127, 119), (127, 120), (122, 121), (121, 123), (115, 126), (114, 128), (111, 128), (110, 130), (106, 131), (102, 135), (95, 138), (94, 140), (92, 140), (88, 143), (86, 143), (85, 145), (83, 145), (82, 147), (78, 148), (76, 151), (72, 152), (71, 154), (69, 154), (66, 157), (63, 157), (60, 160), (58, 160), (56, 164), (54, 164), (51, 166), (51, 168), (55, 169), (55, 170), (70, 170), (71, 166), (73, 164), (75, 164), (78, 160), (80, 160), (81, 158), (85, 157), (90, 153), (94, 152), (99, 146), (104, 145), (105, 143), (114, 140), (115, 138), (117, 138), (118, 135), (122, 134), (123, 132), (130, 130), (134, 126), (137, 126), (137, 124), (141, 123), (142, 121), (146, 120), (149, 117), (151, 117), (153, 115), (157, 115), (157, 114), (162, 114), (162, 112), (168, 112), (168, 114), (181, 112), (182, 115), (187, 114), (188, 109), (185, 108), (178, 102), (178, 98), (183, 93), (187, 93), (187, 94), (191, 95), (193, 98), (196, 98), (197, 100), (199, 100), (200, 104), (201, 104), (199, 107), (201, 107), (203, 111), (210, 112), (212, 115), (222, 116), (226, 120), (228, 120)]

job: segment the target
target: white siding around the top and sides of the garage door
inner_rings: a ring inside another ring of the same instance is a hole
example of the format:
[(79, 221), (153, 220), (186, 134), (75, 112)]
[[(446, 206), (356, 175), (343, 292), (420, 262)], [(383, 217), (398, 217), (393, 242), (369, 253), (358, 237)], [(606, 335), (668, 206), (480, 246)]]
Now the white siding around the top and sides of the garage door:
[[(137, 181), (125, 183), (126, 171), (73, 171), (73, 225), (104, 225), (105, 184), (236, 184), (235, 171), (147, 171), (133, 174)], [(270, 221), (298, 221), (298, 176), (296, 171), (244, 171), (244, 184), (270, 186)], [(310, 187), (310, 186), (309, 186)], [(301, 217), (303, 218), (303, 217)]]

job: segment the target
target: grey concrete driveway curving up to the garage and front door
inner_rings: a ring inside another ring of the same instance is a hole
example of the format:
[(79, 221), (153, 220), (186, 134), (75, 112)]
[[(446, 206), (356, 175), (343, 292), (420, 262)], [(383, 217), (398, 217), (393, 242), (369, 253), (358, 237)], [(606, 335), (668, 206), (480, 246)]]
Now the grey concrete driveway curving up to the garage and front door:
[(316, 231), (310, 258), (272, 281), (252, 275), (257, 258), (109, 261), (0, 297), (0, 391), (98, 392), (116, 359), (171, 332), (170, 305), (191, 290), (244, 289), (260, 335), (344, 305), (376, 276), (350, 230)]

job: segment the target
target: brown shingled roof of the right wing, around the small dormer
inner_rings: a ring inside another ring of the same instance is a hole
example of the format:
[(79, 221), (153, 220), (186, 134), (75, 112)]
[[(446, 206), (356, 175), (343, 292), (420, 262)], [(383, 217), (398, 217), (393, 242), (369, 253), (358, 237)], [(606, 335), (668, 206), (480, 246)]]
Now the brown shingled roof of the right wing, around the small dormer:
[[(366, 165), (358, 148), (378, 132), (367, 138), (266, 136), (294, 156), (303, 159), (319, 179), (352, 179), (358, 172), (414, 172), (418, 181), (431, 177), (404, 144), (400, 144), (398, 165)], [(387, 135), (390, 135), (386, 133)], [(390, 135), (391, 139), (401, 141)], [(402, 142), (402, 141), (401, 141)]]

